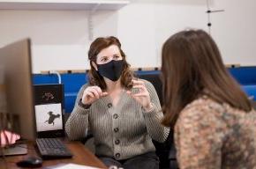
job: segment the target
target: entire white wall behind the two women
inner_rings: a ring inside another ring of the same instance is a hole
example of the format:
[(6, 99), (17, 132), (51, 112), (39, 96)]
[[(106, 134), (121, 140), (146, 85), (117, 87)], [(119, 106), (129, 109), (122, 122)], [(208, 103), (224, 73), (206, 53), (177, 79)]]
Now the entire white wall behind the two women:
[[(212, 35), (225, 63), (256, 65), (255, 0), (212, 0)], [(207, 30), (206, 0), (131, 0), (94, 14), (94, 37), (117, 36), (132, 67), (161, 65), (164, 40), (187, 27)], [(0, 46), (30, 37), (34, 72), (88, 69), (88, 11), (0, 11)]]

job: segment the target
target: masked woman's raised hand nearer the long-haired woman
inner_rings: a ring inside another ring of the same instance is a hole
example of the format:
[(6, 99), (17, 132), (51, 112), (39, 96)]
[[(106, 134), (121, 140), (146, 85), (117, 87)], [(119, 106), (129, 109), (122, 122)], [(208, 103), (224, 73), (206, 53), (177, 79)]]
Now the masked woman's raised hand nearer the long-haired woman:
[(139, 104), (148, 112), (153, 108), (153, 105), (150, 101), (149, 92), (145, 86), (145, 83), (141, 80), (132, 80), (133, 89), (139, 89), (139, 93), (132, 94), (131, 91), (126, 93), (132, 96), (133, 99), (139, 102)]

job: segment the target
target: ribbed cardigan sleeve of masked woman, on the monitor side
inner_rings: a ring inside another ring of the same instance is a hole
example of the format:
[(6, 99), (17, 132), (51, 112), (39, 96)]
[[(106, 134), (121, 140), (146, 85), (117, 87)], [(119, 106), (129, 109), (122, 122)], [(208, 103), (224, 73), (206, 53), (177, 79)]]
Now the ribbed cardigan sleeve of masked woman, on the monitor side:
[(87, 136), (87, 130), (89, 128), (88, 116), (90, 108), (85, 109), (79, 106), (79, 99), (82, 98), (83, 92), (87, 88), (87, 84), (83, 85), (77, 96), (75, 107), (72, 110), (72, 114), (65, 123), (65, 131), (69, 139), (79, 140)]

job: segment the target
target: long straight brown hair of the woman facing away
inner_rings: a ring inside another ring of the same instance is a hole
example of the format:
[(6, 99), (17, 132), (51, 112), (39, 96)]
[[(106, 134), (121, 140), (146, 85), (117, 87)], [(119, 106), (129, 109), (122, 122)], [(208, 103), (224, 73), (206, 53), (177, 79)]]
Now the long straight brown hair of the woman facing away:
[(249, 112), (245, 92), (230, 76), (215, 41), (203, 30), (174, 34), (162, 47), (162, 124), (173, 127), (182, 109), (204, 91), (219, 103)]

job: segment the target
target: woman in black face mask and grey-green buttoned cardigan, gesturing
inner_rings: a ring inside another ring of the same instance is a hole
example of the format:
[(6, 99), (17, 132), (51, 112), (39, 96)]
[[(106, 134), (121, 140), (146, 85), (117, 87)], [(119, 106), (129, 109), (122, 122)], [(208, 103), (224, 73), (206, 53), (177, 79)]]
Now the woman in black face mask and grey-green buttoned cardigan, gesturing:
[(165, 141), (159, 99), (152, 84), (135, 80), (115, 37), (94, 40), (89, 83), (82, 86), (66, 132), (74, 140), (94, 135), (102, 162), (124, 168), (158, 168), (152, 138)]

